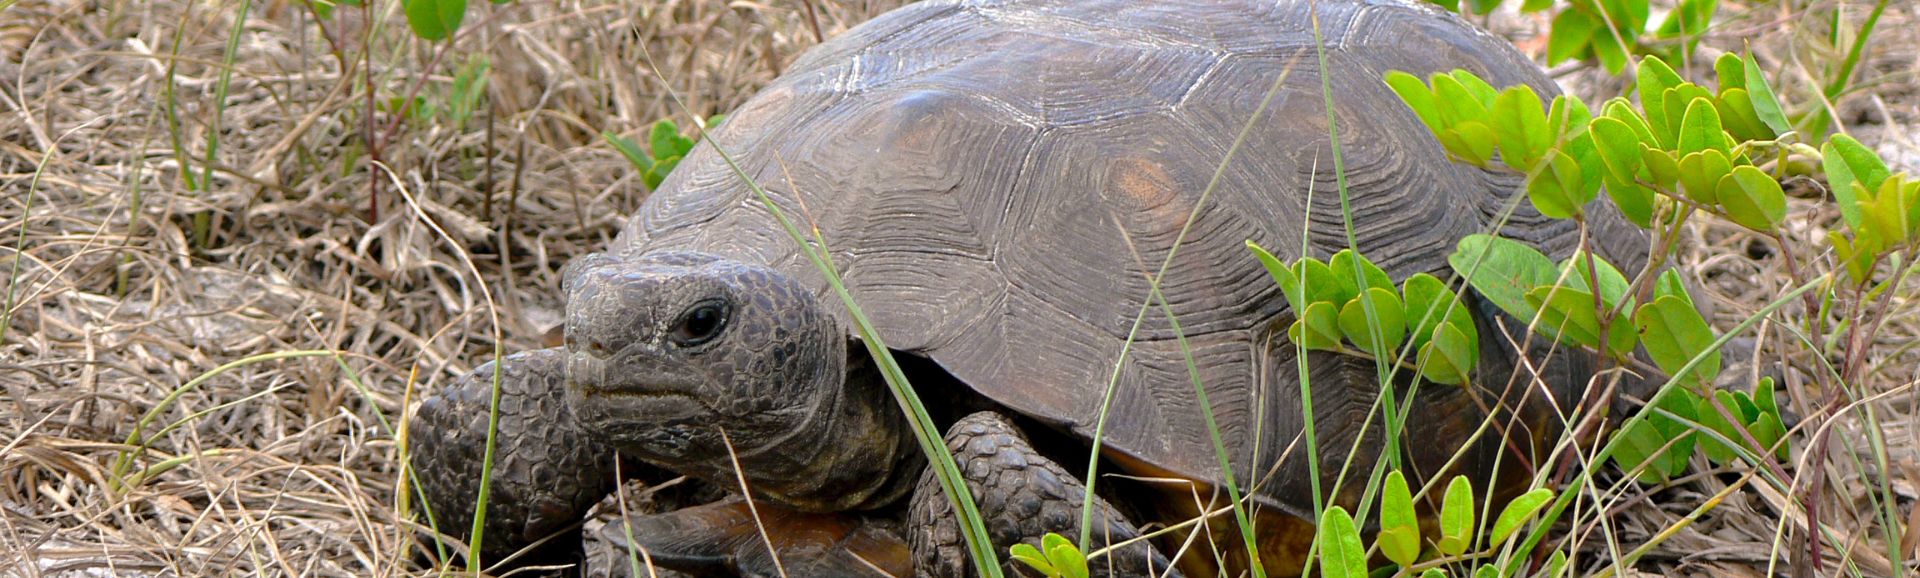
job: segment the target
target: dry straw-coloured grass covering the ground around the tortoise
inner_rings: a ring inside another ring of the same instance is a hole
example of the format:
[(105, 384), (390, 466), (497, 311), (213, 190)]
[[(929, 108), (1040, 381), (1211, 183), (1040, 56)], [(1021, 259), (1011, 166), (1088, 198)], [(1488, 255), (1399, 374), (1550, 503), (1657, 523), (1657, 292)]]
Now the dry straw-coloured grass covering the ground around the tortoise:
[[(217, 106), (242, 2), (0, 2), (0, 576), (424, 572), (396, 505), (390, 424), (495, 336), (509, 351), (551, 340), (555, 273), (607, 242), (645, 190), (599, 132), (685, 123), (662, 83), (695, 113), (726, 111), (816, 35), (899, 2), (476, 2), (449, 56), (411, 38), (397, 2), (378, 4), (317, 23), (301, 2), (252, 2)], [(1805, 2), (1741, 4), (1757, 6), (1709, 44), (1751, 40), (1788, 77), (1805, 73), (1786, 56), (1812, 33), (1780, 8)], [(1544, 46), (1544, 21), (1494, 23)], [(372, 58), (359, 50), (369, 36)], [(490, 106), (467, 123), (363, 115), (415, 90), (445, 94), (468, 56), (493, 69)], [(1916, 69), (1920, 8), (1895, 2), (1862, 90), (1839, 104), (1908, 169), (1920, 167)], [(1619, 90), (1588, 67), (1561, 73), (1588, 96)], [(209, 186), (192, 188), (213, 131)], [(1812, 205), (1797, 202), (1807, 242), (1836, 219)], [(1724, 325), (1786, 284), (1764, 244), (1732, 227), (1699, 227), (1684, 261)], [(1901, 513), (1920, 497), (1914, 313), (1880, 336), (1868, 394), (1882, 397), (1836, 422), (1839, 453), (1824, 465), (1839, 484), (1824, 518), (1836, 528), (1878, 528), (1864, 495), (1882, 478)], [(307, 349), (340, 353), (240, 363), (182, 392), (221, 365)], [(1899, 470), (1860, 457), (1866, 411)], [(136, 432), (152, 440), (125, 446)], [(119, 490), (129, 451), (144, 476)], [(1613, 530), (1645, 542), (1724, 484), (1649, 488), (1657, 499), (1624, 501)], [(1782, 505), (1736, 492), (1642, 566), (1763, 576)], [(1847, 538), (1830, 557), (1893, 572), (1878, 530)]]

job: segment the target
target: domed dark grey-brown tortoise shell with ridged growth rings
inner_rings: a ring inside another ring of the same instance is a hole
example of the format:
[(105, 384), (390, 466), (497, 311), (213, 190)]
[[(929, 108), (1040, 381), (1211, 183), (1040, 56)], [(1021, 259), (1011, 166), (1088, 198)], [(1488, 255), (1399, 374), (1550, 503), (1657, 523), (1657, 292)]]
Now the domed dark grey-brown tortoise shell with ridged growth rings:
[[(818, 227), (891, 348), (1089, 438), (1146, 277), (1196, 215), (1162, 286), (1236, 476), (1261, 478), (1256, 494), (1288, 507), (1308, 495), (1304, 459), (1275, 469), (1302, 430), (1284, 342), (1292, 317), (1244, 242), (1292, 257), (1308, 229), (1315, 255), (1346, 246), (1311, 4), (924, 2), (810, 50), (712, 140), (787, 215)], [(1394, 278), (1448, 278), (1455, 240), (1484, 230), (1515, 200), (1517, 179), (1448, 161), (1380, 77), (1465, 67), (1496, 86), (1557, 90), (1505, 40), (1430, 6), (1317, 4), (1359, 248)], [(1202, 204), (1277, 79), (1271, 108)], [(1596, 219), (1603, 240), (1628, 234), (1613, 215)], [(1503, 234), (1549, 252), (1576, 240), (1571, 223), (1524, 205)], [(707, 144), (645, 202), (616, 250), (768, 263), (837, 301)], [(1482, 342), (1503, 346), (1492, 330), (1482, 323)], [(1511, 367), (1492, 355), (1490, 367)], [(1309, 361), (1321, 447), (1342, 449), (1325, 451), (1336, 465), (1379, 386), (1371, 363)], [(1503, 386), (1501, 373), (1490, 388)], [(1428, 386), (1415, 407), (1407, 438), (1423, 444), (1411, 453), (1430, 467), (1455, 446), (1430, 442), (1465, 440), (1484, 415), (1459, 388)], [(1137, 469), (1221, 478), (1173, 326), (1158, 311), (1119, 373), (1106, 436)], [(1469, 463), (1492, 459), (1482, 446)]]

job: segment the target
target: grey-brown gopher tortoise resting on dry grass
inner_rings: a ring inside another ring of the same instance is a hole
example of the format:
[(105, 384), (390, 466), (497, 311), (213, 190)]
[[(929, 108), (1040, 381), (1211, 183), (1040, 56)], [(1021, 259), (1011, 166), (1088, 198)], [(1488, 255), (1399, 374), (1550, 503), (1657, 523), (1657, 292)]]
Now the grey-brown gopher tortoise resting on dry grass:
[[(1405, 0), (912, 4), (808, 50), (708, 134), (611, 248), (568, 265), (564, 348), (499, 365), (488, 551), (564, 540), (632, 459), (733, 495), (630, 515), (612, 532), (659, 566), (972, 574), (950, 503), (849, 309), (718, 144), (818, 230), (947, 428), (1002, 557), (1046, 532), (1077, 536), (1079, 476), (1112, 380), (1096, 545), (1213, 515), (1114, 549), (1096, 574), (1246, 565), (1244, 547), (1229, 547), (1240, 540), (1233, 517), (1219, 515), (1225, 474), (1183, 336), (1256, 513), (1261, 561), (1298, 572), (1311, 484), (1296, 447), (1292, 313), (1244, 244), (1283, 259), (1302, 238), (1319, 257), (1348, 246), (1315, 23), (1363, 253), (1396, 280), (1452, 278), (1455, 242), (1507, 211), (1503, 236), (1572, 252), (1572, 223), (1513, 209), (1515, 177), (1452, 163), (1382, 83), (1392, 69), (1465, 67), (1557, 94), (1513, 46), (1452, 13)], [(1594, 246), (1640, 267), (1634, 229), (1601, 204), (1588, 209)], [(1173, 319), (1156, 307), (1135, 330), (1169, 253), (1160, 288)], [(1517, 351), (1507, 334), (1523, 325), (1467, 300), (1488, 336), (1475, 386), (1419, 388), (1404, 432), (1415, 442), (1402, 451), (1417, 480), (1467, 472), (1509, 490), (1561, 428), (1546, 399), (1580, 399), (1594, 367), (1546, 355), (1544, 342)], [(1523, 355), (1532, 363), (1513, 378)], [(1379, 421), (1367, 426), (1380, 388), (1371, 361), (1308, 357), (1319, 470), (1334, 488), (1346, 447), (1359, 444), (1359, 465), (1384, 447)], [(484, 365), (413, 422), (417, 478), (447, 534), (470, 524), (492, 384)], [(1509, 436), (1475, 438), (1486, 419)], [(1354, 476), (1327, 499), (1356, 505)], [(1192, 528), (1202, 536), (1183, 549)]]

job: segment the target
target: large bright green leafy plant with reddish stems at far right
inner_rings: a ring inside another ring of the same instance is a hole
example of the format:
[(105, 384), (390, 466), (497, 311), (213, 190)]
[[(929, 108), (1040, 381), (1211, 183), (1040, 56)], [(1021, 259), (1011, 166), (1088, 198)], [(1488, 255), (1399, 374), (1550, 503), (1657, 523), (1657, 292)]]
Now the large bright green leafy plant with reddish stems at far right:
[[(1868, 373), (1868, 336), (1887, 319), (1889, 292), (1912, 271), (1920, 181), (1891, 173), (1872, 150), (1843, 134), (1818, 148), (1803, 142), (1755, 60), (1728, 54), (1715, 73), (1716, 86), (1709, 90), (1661, 58), (1644, 58), (1640, 102), (1615, 98), (1597, 115), (1578, 98), (1542, 104), (1530, 88), (1494, 90), (1465, 71), (1425, 83), (1390, 73), (1386, 83), (1453, 159), (1524, 175), (1524, 194), (1542, 215), (1572, 219), (1582, 229), (1582, 250), (1561, 263), (1524, 244), (1469, 236), (1450, 259), (1455, 273), (1500, 309), (1530, 321), (1532, 332), (1617, 367), (1667, 376), (1647, 407), (1588, 459), (1613, 459), (1640, 480), (1659, 482), (1682, 472), (1693, 455), (1711, 463), (1738, 457), (1778, 492), (1803, 492), (1797, 495), (1803, 503), (1816, 503), (1822, 476), (1803, 488), (1786, 482), (1778, 461), (1786, 432), (1772, 382), (1755, 384), (1753, 394), (1713, 388), (1720, 373), (1716, 349), (1730, 334), (1715, 332), (1680, 278), (1661, 269), (1682, 227), (1695, 217), (1770, 238), (1797, 288), (1736, 332), (1799, 300), (1803, 311), (1784, 323), (1820, 359), (1837, 359), (1809, 378), (1828, 396), (1822, 411), (1839, 411), (1847, 401), (1843, 392)], [(1780, 181), (1789, 177), (1826, 177), (1832, 186), (1843, 215), (1828, 236), (1836, 259), (1816, 259), (1786, 242)], [(1601, 190), (1653, 236), (1649, 263), (1632, 277), (1584, 246), (1586, 207)], [(1832, 271), (1822, 271), (1824, 263), (1834, 263)], [(1636, 349), (1645, 349), (1651, 365), (1632, 355)], [(1597, 407), (1586, 409), (1584, 421), (1594, 422)], [(1820, 434), (1811, 442), (1812, 463), (1824, 459), (1824, 440)], [(1565, 507), (1567, 497), (1557, 499), (1548, 518)], [(1534, 530), (1526, 547), (1540, 538), (1542, 530)], [(1809, 543), (1818, 559), (1820, 540)]]

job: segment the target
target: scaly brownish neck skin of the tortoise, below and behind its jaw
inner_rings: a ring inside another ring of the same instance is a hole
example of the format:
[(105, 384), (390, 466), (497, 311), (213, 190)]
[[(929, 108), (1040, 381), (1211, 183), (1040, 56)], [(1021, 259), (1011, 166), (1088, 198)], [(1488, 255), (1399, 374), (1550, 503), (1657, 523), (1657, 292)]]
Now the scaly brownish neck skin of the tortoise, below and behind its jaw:
[[(755, 495), (801, 511), (862, 511), (912, 490), (925, 467), (912, 428), (866, 351), (849, 357), (843, 386), (789, 434), (743, 449), (741, 434), (728, 432)], [(687, 474), (739, 488), (726, 455)]]

